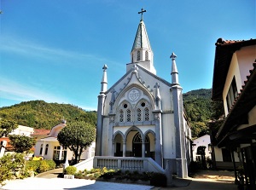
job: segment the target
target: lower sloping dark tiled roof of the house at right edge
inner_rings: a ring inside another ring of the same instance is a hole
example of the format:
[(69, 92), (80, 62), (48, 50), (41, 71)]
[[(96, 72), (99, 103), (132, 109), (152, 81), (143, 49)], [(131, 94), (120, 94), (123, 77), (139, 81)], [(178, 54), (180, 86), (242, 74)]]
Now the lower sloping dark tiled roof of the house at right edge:
[(236, 126), (247, 124), (247, 113), (256, 105), (256, 60), (253, 63), (253, 69), (249, 71), (247, 80), (242, 85), (241, 92), (230, 108), (229, 115), (225, 118), (224, 124), (218, 130), (216, 138), (222, 141), (224, 135), (236, 130)]

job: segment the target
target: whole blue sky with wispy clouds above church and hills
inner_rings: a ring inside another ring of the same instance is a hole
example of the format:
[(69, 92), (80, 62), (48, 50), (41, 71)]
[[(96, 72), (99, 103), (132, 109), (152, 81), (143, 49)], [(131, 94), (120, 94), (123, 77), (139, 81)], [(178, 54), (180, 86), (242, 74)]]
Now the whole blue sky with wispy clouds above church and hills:
[(0, 107), (44, 100), (96, 110), (102, 66), (108, 87), (125, 74), (140, 9), (157, 75), (183, 92), (212, 88), (215, 43), (255, 38), (254, 0), (0, 0)]

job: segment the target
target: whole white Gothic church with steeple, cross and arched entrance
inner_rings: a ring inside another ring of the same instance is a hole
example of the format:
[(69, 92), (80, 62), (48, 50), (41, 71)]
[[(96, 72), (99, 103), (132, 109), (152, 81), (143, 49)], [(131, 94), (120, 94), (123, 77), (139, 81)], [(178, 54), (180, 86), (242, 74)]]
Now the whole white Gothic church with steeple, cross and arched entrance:
[(131, 62), (122, 78), (108, 88), (102, 70), (98, 95), (96, 156), (150, 158), (163, 170), (166, 163), (178, 177), (188, 176), (191, 161), (191, 130), (183, 111), (182, 87), (178, 82), (177, 56), (172, 53), (170, 81), (156, 75), (154, 54), (146, 26), (141, 20), (131, 49)]

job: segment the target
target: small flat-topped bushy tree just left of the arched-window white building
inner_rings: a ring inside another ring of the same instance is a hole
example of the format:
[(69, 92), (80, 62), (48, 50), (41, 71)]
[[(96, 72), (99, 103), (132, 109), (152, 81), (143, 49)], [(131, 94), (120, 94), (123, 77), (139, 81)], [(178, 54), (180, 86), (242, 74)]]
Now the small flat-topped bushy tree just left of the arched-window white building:
[(16, 153), (29, 151), (36, 144), (36, 140), (33, 137), (26, 135), (9, 135), (9, 140)]

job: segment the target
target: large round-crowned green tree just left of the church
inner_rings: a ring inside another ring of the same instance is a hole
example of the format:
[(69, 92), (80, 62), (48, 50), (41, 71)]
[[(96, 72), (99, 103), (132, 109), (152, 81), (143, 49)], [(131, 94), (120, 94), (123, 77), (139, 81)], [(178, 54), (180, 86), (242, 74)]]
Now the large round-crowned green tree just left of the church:
[(75, 155), (74, 164), (79, 163), (81, 154), (95, 140), (96, 130), (93, 124), (76, 121), (63, 128), (57, 139), (61, 146), (68, 147)]

